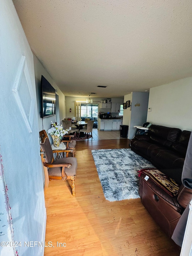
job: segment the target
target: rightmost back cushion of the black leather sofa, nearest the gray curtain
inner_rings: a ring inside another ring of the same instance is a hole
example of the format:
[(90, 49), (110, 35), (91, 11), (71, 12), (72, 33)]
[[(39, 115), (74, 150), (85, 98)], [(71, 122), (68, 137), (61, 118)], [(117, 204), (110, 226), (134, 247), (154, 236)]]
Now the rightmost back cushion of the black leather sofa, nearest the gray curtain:
[(190, 138), (190, 131), (182, 131), (180, 134), (178, 140), (176, 142), (173, 142), (172, 144), (172, 149), (175, 152), (178, 152), (179, 154), (185, 156), (187, 152), (187, 146), (189, 143), (189, 138)]

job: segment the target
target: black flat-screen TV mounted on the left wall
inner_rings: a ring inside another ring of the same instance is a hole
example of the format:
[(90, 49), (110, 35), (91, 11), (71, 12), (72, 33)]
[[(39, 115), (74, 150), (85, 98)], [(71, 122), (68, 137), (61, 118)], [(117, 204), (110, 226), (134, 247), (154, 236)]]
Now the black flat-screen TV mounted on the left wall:
[(41, 76), (41, 118), (55, 115), (55, 89)]

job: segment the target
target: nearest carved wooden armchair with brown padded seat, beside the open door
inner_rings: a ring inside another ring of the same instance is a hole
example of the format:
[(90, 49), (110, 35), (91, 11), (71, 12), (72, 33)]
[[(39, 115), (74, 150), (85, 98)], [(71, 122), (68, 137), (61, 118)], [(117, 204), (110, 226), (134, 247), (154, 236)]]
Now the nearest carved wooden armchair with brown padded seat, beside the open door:
[[(75, 177), (76, 177), (76, 168), (77, 160), (75, 157), (66, 157), (60, 158), (58, 153), (64, 152), (66, 156), (69, 153), (69, 150), (52, 150), (49, 138), (46, 132), (43, 130), (40, 132), (41, 137), (41, 161), (44, 167), (45, 173), (45, 186), (44, 186), (44, 195), (46, 195), (47, 188), (49, 185), (49, 180), (52, 179), (62, 179), (62, 180), (71, 180), (71, 189), (72, 195), (75, 196)], [(58, 159), (54, 160), (53, 153), (58, 154)]]

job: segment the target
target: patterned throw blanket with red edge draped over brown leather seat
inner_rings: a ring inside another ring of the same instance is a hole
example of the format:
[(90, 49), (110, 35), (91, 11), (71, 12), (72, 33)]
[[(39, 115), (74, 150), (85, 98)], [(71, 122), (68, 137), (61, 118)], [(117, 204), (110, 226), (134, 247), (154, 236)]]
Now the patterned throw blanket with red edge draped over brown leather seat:
[(164, 173), (160, 172), (157, 169), (142, 169), (138, 171), (138, 176), (141, 176), (141, 173), (144, 173), (148, 176), (152, 181), (155, 182), (160, 188), (162, 188), (167, 194), (171, 197), (174, 197), (178, 194), (179, 185), (171, 179), (170, 177), (166, 176)]

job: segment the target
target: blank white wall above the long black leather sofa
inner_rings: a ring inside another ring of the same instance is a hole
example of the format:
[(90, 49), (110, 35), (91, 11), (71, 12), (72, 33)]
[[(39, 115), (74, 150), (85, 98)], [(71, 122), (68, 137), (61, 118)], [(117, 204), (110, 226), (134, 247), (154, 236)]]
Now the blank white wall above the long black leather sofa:
[(192, 130), (192, 77), (150, 89), (147, 122)]

